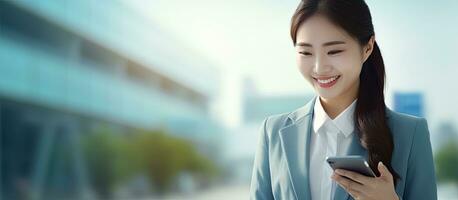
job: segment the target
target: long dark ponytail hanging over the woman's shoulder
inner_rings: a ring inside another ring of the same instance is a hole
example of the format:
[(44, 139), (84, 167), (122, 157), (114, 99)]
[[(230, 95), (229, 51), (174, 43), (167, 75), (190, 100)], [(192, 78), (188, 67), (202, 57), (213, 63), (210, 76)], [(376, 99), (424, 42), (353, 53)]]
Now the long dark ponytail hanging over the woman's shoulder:
[(390, 170), (396, 184), (399, 175), (391, 166), (394, 143), (385, 110), (385, 66), (376, 42), (371, 55), (363, 64), (359, 79), (358, 101), (354, 115), (358, 136), (368, 151), (368, 162), (372, 170), (378, 176), (380, 173), (377, 164), (382, 161)]

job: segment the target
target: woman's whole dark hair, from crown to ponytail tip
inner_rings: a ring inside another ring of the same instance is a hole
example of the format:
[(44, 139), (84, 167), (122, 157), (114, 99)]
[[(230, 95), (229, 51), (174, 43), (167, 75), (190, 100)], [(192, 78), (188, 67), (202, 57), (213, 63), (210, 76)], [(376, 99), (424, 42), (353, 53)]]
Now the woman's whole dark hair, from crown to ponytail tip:
[[(314, 14), (327, 17), (361, 46), (366, 45), (374, 35), (372, 17), (364, 0), (302, 0), (291, 19), (291, 38), (294, 45), (299, 26)], [(354, 115), (358, 136), (368, 151), (372, 170), (379, 176), (377, 164), (382, 161), (393, 175), (396, 185), (399, 175), (391, 166), (394, 144), (385, 110), (385, 66), (376, 42), (372, 54), (363, 64), (359, 80)]]

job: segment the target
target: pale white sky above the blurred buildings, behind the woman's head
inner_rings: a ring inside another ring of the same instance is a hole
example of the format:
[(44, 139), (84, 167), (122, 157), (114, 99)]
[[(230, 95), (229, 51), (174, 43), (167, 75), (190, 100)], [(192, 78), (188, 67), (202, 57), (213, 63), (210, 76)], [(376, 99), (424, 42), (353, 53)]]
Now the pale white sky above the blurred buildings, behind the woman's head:
[[(244, 76), (266, 95), (313, 92), (296, 68), (289, 37), (290, 17), (299, 0), (130, 2), (227, 75), (218, 110), (229, 124), (239, 123)], [(388, 105), (394, 91), (420, 91), (430, 124), (448, 119), (458, 124), (458, 85), (453, 83), (458, 73), (458, 1), (367, 2), (385, 60)]]

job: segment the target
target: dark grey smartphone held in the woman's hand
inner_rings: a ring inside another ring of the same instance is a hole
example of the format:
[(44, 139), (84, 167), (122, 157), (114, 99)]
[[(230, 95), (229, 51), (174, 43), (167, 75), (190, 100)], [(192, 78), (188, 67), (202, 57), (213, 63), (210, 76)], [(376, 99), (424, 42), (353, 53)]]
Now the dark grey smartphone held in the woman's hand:
[(332, 169), (344, 169), (365, 176), (376, 177), (374, 171), (362, 156), (328, 156), (326, 162)]

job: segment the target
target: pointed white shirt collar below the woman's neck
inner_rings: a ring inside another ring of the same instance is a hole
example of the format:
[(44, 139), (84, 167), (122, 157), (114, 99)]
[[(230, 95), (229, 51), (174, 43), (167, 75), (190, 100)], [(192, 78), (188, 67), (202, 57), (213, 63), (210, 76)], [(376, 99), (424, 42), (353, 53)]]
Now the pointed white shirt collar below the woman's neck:
[(326, 125), (327, 127), (334, 126), (341, 133), (348, 137), (355, 129), (354, 125), (354, 112), (356, 106), (356, 99), (335, 119), (331, 119), (321, 104), (320, 97), (315, 98), (315, 106), (313, 112), (313, 130), (319, 133), (319, 130)]

